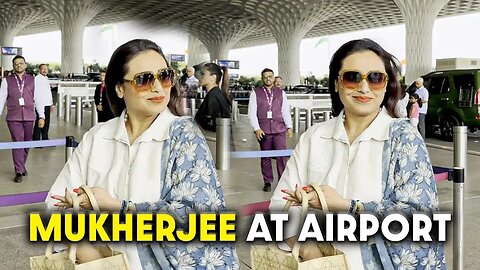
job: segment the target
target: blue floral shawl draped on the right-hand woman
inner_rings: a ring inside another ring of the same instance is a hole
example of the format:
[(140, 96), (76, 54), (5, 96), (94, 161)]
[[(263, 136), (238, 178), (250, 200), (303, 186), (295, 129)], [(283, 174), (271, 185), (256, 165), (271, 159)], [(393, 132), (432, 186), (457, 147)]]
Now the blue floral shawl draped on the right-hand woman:
[[(364, 203), (365, 211), (383, 216), (392, 212), (433, 213), (438, 209), (437, 188), (427, 147), (406, 120), (390, 127), (383, 154), (383, 199)], [(446, 269), (442, 243), (391, 243), (376, 237), (362, 245), (365, 269)]]

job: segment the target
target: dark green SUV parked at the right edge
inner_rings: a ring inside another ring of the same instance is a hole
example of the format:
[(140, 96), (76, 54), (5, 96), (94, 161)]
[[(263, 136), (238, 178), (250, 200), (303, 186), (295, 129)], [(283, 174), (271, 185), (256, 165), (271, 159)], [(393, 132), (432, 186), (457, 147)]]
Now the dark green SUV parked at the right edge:
[(427, 131), (436, 129), (446, 140), (453, 139), (453, 127), (480, 128), (480, 69), (436, 71), (422, 76), (429, 92)]

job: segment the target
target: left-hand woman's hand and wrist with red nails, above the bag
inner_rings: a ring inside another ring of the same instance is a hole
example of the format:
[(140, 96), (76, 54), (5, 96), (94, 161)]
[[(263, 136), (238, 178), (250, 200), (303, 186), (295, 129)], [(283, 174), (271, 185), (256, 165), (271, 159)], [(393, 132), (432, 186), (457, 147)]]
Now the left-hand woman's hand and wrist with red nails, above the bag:
[[(93, 195), (98, 203), (98, 207), (101, 211), (119, 211), (121, 202), (120, 200), (113, 198), (110, 193), (101, 187), (91, 187)], [(74, 189), (78, 194), (77, 198), (80, 202), (80, 207), (83, 209), (93, 209), (90, 200), (88, 199), (87, 194), (80, 188)], [(65, 189), (65, 196), (53, 195), (52, 199), (58, 200), (59, 202), (55, 204), (58, 207), (71, 208), (73, 207), (72, 199), (70, 196), (75, 196)]]

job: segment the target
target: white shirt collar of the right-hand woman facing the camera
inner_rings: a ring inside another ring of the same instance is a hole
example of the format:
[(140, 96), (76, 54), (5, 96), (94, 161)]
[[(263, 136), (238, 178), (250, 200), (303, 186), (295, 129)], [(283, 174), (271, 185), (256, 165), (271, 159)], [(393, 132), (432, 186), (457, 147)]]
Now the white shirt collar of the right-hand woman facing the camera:
[[(336, 139), (341, 142), (349, 143), (347, 132), (345, 131), (345, 126), (343, 125), (343, 116), (344, 111), (335, 118), (334, 128), (332, 132), (325, 133), (322, 137)], [(358, 141), (368, 141), (368, 140), (376, 140), (376, 141), (386, 141), (389, 139), (389, 130), (390, 124), (393, 121), (393, 117), (391, 117), (385, 108), (382, 108), (378, 113), (377, 117), (373, 120), (373, 122), (358, 136)]]

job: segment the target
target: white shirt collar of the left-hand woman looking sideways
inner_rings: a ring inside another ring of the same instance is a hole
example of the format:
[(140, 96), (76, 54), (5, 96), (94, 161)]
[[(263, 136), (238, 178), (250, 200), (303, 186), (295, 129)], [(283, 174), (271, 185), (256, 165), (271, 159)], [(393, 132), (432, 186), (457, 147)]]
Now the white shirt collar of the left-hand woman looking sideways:
[[(117, 140), (126, 144), (129, 144), (127, 128), (125, 126), (125, 110), (120, 117), (115, 118), (114, 128), (108, 132), (104, 138), (109, 140)], [(177, 118), (173, 115), (168, 108), (165, 108), (163, 112), (158, 114), (157, 118), (153, 121), (150, 127), (138, 137), (139, 142), (149, 141), (165, 141), (170, 138), (169, 129), (171, 122)]]

